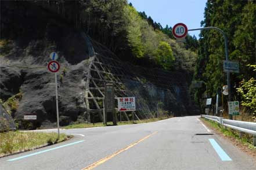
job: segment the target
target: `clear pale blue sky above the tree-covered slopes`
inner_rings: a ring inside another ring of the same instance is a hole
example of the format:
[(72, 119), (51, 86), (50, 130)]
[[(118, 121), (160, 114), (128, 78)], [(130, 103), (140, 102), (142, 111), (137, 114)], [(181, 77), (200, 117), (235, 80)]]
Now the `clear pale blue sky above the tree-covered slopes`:
[[(207, 0), (128, 0), (139, 12), (145, 12), (162, 27), (176, 23), (187, 25), (188, 29), (200, 28), (204, 20), (204, 8)], [(200, 31), (190, 31), (199, 39)]]

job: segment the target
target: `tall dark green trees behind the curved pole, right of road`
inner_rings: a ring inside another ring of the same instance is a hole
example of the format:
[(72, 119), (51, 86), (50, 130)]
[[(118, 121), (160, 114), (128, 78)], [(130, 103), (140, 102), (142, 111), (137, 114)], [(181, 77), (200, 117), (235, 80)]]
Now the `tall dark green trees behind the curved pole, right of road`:
[[(255, 40), (256, 40), (255, 1), (212, 1), (208, 0), (204, 12), (203, 27), (218, 27), (228, 37), (229, 60), (238, 61), (240, 73), (232, 73), (233, 100), (241, 101), (247, 114), (253, 117), (256, 111), (255, 83)], [(201, 31), (199, 39), (199, 60), (195, 80), (206, 83), (206, 88), (196, 91), (195, 97), (201, 101), (201, 94), (214, 97), (218, 88), (226, 84), (222, 60), (225, 60), (225, 47), (222, 35), (215, 30)], [(224, 97), (224, 103), (226, 97)], [(227, 109), (225, 109), (227, 110)]]

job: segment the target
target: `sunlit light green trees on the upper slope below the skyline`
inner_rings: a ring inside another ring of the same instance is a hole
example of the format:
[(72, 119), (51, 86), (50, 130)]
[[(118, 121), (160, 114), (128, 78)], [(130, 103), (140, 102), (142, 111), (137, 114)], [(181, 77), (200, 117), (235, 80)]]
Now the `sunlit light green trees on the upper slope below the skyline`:
[(164, 69), (175, 66), (175, 68), (193, 71), (197, 55), (191, 50), (186, 50), (185, 47), (190, 49), (193, 44), (193, 50), (196, 51), (196, 38), (189, 36), (190, 45), (182, 47), (182, 44), (170, 39), (172, 38), (171, 27), (167, 25), (162, 28), (154, 23), (151, 17), (147, 17), (145, 12), (138, 13), (134, 7), (126, 6), (124, 16), (127, 19), (128, 44), (135, 57), (149, 57)]

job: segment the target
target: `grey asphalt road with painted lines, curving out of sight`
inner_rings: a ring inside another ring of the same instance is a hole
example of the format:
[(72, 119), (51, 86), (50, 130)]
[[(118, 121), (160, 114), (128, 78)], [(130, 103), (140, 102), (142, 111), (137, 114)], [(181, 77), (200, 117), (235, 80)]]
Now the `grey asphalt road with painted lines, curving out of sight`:
[(212, 133), (198, 117), (61, 130), (75, 138), (0, 158), (0, 169), (256, 169), (255, 160), (226, 139), (196, 135)]

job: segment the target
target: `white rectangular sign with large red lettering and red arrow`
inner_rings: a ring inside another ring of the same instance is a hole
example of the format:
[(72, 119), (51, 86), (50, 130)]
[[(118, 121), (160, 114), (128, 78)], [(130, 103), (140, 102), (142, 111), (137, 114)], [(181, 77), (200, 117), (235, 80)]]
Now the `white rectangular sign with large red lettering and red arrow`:
[(135, 111), (135, 97), (120, 97), (117, 98), (118, 112)]

